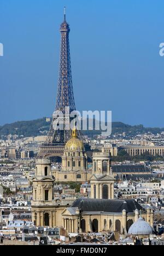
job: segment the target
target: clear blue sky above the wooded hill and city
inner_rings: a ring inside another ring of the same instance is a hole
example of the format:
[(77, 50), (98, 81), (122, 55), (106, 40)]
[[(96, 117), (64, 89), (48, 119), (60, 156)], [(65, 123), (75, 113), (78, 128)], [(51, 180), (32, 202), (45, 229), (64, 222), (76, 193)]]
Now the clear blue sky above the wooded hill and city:
[(65, 5), (77, 109), (164, 127), (162, 0), (1, 0), (0, 125), (54, 111)]

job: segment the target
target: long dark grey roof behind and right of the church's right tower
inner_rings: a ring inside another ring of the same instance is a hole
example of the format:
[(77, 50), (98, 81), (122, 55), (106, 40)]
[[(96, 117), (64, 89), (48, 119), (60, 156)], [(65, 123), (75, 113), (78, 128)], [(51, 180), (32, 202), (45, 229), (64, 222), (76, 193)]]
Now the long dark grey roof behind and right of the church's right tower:
[(150, 169), (147, 166), (142, 165), (124, 165), (121, 166), (112, 166), (113, 173), (140, 173), (140, 172), (147, 172), (150, 173)]

